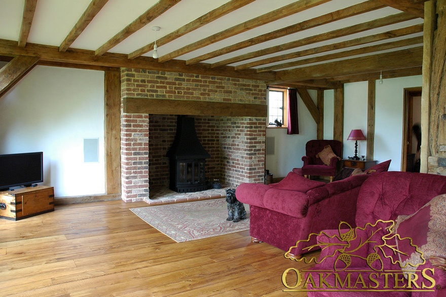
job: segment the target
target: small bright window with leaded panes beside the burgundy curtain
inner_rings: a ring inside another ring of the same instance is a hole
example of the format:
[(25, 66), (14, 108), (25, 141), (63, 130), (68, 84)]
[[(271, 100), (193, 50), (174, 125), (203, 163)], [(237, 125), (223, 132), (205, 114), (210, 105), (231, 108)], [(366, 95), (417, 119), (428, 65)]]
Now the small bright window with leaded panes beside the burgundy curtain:
[(287, 122), (287, 98), (286, 89), (268, 89), (268, 126), (277, 127), (276, 120), (286, 127)]

